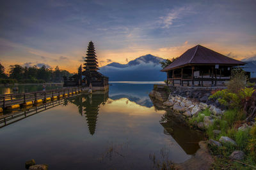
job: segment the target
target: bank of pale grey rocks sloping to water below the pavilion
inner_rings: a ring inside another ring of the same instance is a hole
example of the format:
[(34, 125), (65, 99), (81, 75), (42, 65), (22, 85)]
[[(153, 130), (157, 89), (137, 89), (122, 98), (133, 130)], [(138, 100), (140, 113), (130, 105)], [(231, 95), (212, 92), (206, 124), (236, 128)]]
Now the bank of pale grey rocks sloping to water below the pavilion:
[[(166, 92), (164, 92), (166, 94)], [(182, 97), (179, 96), (180, 94), (196, 94), (192, 98), (190, 97)], [(168, 98), (163, 97), (163, 91), (157, 91), (152, 90), (149, 94), (150, 97), (153, 97), (154, 99), (157, 99), (158, 101), (163, 102), (163, 105), (166, 108), (170, 108), (170, 110), (175, 111), (176, 113), (180, 113), (183, 115), (186, 120), (190, 120), (191, 117), (194, 115), (198, 115), (200, 111), (205, 110), (206, 108), (209, 108), (211, 111), (211, 115), (207, 116), (204, 114), (201, 114), (200, 116), (204, 117), (204, 122), (193, 122), (193, 125), (198, 127), (199, 129), (204, 130), (205, 127), (209, 127), (209, 125), (212, 125), (214, 122), (214, 118), (221, 118), (223, 115), (223, 112), (225, 110), (221, 110), (221, 108), (218, 108), (217, 106), (221, 106), (218, 104), (218, 102), (210, 101), (208, 100), (208, 97), (211, 95), (211, 92), (208, 90), (198, 92), (196, 90), (195, 92), (169, 92)], [(200, 101), (207, 101), (207, 103), (203, 103)]]

